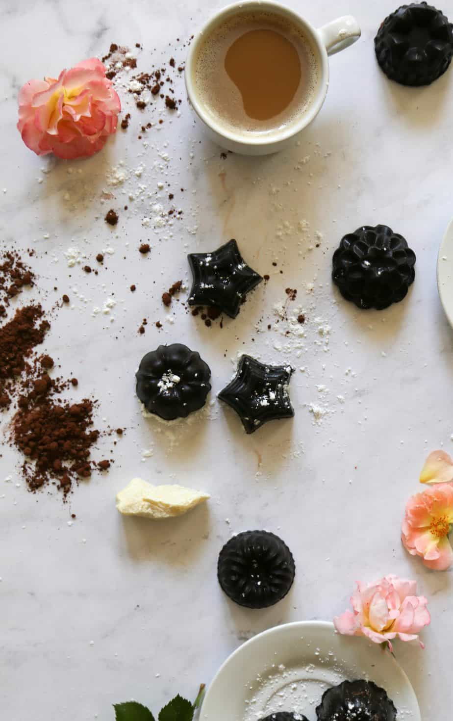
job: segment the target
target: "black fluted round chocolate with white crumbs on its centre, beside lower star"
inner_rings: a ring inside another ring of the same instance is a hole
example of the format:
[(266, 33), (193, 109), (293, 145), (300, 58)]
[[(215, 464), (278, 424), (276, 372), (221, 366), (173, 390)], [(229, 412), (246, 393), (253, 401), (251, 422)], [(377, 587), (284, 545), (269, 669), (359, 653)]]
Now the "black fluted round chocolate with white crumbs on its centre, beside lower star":
[(135, 377), (146, 410), (165, 420), (185, 418), (205, 405), (211, 371), (187, 345), (159, 345), (143, 356)]

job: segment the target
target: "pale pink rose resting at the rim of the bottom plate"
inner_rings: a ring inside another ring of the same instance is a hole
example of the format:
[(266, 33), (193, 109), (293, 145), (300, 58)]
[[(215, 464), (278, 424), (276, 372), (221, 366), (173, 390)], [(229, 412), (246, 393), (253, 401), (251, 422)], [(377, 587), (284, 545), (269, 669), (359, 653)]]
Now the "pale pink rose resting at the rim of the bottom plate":
[(366, 636), (374, 643), (388, 643), (390, 651), (396, 636), (402, 641), (418, 639), (418, 632), (428, 626), (431, 616), (426, 608), (428, 601), (416, 596), (416, 588), (416, 581), (393, 575), (371, 585), (357, 583), (351, 596), (353, 611), (333, 619), (336, 630), (347, 636)]

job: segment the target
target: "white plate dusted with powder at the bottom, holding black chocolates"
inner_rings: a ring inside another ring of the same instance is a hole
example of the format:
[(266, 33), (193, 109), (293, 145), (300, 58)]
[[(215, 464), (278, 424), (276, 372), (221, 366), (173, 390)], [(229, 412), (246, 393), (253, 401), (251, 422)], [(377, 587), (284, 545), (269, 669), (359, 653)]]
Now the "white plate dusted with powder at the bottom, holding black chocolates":
[(336, 634), (333, 624), (296, 622), (265, 631), (238, 648), (217, 672), (201, 721), (258, 721), (277, 711), (315, 721), (323, 692), (367, 678), (387, 691), (399, 721), (421, 721), (416, 695), (395, 659), (362, 638)]

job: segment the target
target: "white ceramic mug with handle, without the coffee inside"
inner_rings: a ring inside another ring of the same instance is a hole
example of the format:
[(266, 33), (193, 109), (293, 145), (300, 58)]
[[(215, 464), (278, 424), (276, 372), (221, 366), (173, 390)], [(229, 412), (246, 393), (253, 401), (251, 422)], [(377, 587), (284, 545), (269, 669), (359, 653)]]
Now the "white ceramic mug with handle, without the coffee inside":
[[(307, 37), (315, 53), (318, 66), (318, 87), (313, 93), (310, 105), (303, 110), (299, 118), (296, 118), (292, 123), (286, 125), (282, 130), (274, 131), (270, 137), (254, 133), (253, 131), (249, 133), (244, 131), (234, 133), (226, 126), (223, 127), (221, 122), (215, 120), (212, 114), (207, 112), (194, 82), (194, 66), (197, 52), (200, 44), (203, 43), (208, 33), (226, 19), (241, 12), (253, 12), (254, 10), (273, 12), (290, 20), (292, 25), (301, 30), (302, 34)], [(243, 0), (233, 5), (228, 5), (217, 12), (217, 14), (202, 27), (202, 30), (199, 31), (192, 41), (189, 54), (187, 55), (185, 69), (186, 89), (189, 101), (199, 119), (204, 123), (211, 140), (223, 148), (242, 155), (266, 155), (268, 153), (275, 153), (289, 145), (292, 138), (294, 138), (297, 133), (300, 133), (303, 128), (306, 128), (313, 118), (318, 115), (328, 91), (328, 56), (333, 55), (333, 53), (338, 53), (338, 50), (344, 50), (348, 45), (355, 43), (359, 37), (360, 27), (356, 19), (351, 15), (339, 17), (332, 22), (328, 22), (327, 25), (316, 29), (290, 8), (278, 2), (273, 2), (272, 0)]]

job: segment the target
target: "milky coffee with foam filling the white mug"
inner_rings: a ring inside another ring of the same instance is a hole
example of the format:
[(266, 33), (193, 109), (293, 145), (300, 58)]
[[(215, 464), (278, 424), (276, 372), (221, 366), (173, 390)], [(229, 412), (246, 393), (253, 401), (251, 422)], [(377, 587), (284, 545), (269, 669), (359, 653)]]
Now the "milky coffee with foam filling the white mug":
[(226, 131), (272, 135), (300, 118), (318, 92), (316, 48), (272, 9), (238, 12), (202, 38), (192, 81)]

